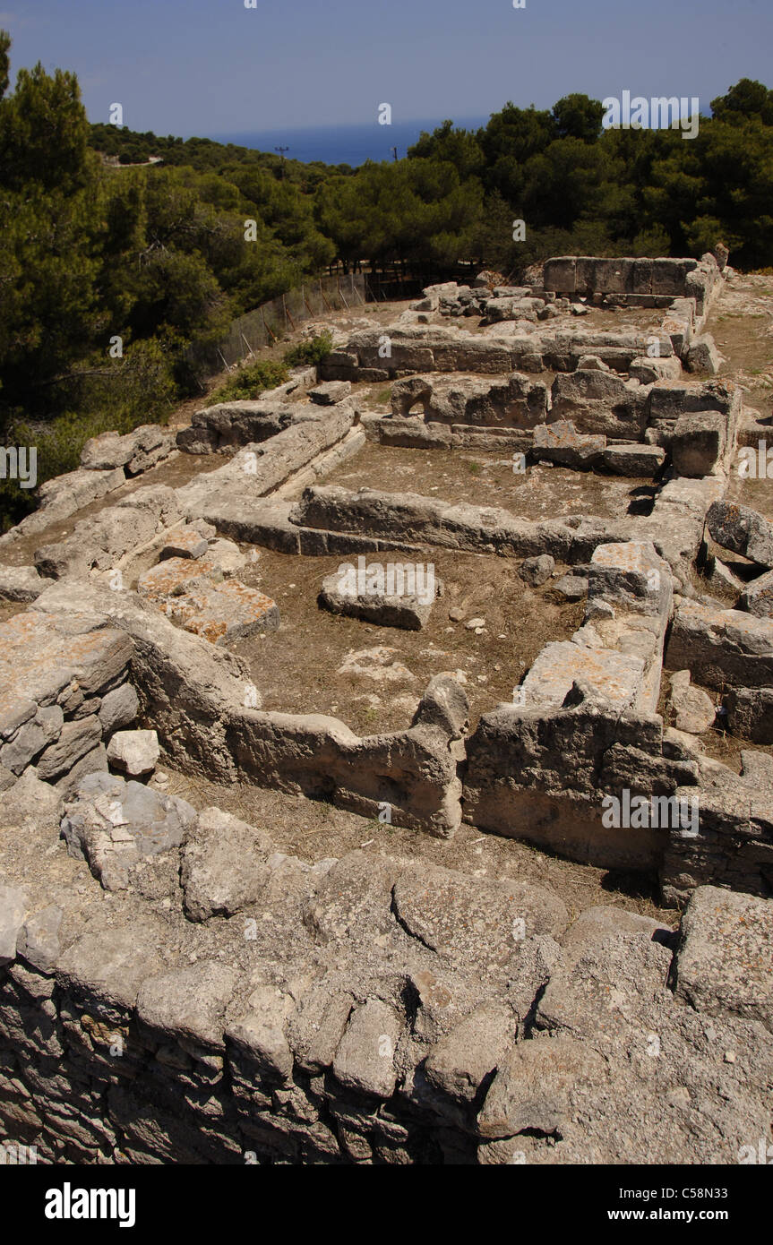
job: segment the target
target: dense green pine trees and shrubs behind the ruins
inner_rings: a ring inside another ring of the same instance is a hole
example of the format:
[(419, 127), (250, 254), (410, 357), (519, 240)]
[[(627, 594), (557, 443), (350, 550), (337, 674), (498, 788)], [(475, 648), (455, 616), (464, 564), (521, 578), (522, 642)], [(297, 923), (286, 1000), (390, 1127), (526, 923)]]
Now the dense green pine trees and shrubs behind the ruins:
[[(36, 443), (39, 479), (77, 466), (87, 436), (163, 418), (195, 392), (197, 347), (337, 261), (518, 275), (549, 254), (721, 239), (741, 268), (773, 264), (758, 82), (714, 100), (692, 141), (602, 131), (601, 103), (573, 95), (507, 103), (474, 133), (447, 121), (407, 159), (351, 169), (90, 125), (70, 72), (22, 68), (9, 93), (9, 49), (0, 31), (0, 442)], [(0, 522), (31, 504), (0, 481)]]

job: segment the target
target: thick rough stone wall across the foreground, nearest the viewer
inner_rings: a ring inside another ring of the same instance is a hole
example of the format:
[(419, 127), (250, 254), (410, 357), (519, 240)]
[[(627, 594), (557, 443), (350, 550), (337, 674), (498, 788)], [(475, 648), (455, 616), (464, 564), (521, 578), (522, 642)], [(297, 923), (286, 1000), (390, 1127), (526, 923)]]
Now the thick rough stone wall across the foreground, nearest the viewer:
[(736, 1163), (767, 1135), (768, 904), (570, 924), (543, 886), (184, 822), (108, 890), (52, 859), (55, 815), (5, 868), (0, 1135), (39, 1160)]

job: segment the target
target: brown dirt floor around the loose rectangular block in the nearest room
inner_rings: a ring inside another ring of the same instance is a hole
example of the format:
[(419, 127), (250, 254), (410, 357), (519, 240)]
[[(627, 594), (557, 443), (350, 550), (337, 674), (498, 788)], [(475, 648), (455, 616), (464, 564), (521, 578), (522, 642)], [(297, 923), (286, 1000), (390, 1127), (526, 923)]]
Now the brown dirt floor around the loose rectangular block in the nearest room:
[[(474, 726), (480, 713), (513, 700), (546, 637), (569, 639), (581, 621), (581, 603), (560, 604), (549, 583), (528, 588), (509, 559), (432, 549), (422, 560), (432, 563), (444, 591), (428, 625), (422, 631), (373, 626), (317, 606), (322, 579), (347, 560), (263, 549), (240, 574), (281, 614), (279, 631), (233, 646), (249, 662), (264, 708), (329, 713), (360, 735), (378, 735), (410, 726), (429, 680), (453, 672), (467, 691)], [(454, 608), (464, 610), (464, 621), (448, 618)], [(480, 635), (464, 625), (476, 618), (483, 619)], [(388, 652), (368, 652), (375, 649)], [(352, 659), (360, 670), (347, 672), (342, 667), (356, 654), (362, 655)]]

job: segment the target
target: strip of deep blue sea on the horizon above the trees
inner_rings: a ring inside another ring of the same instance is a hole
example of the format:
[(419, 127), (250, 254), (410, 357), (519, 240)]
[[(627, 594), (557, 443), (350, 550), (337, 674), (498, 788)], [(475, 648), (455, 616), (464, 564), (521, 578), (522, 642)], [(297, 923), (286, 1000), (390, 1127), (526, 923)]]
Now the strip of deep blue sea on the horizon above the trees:
[[(237, 143), (239, 147), (251, 147), (256, 151), (273, 152), (286, 147), (288, 159), (322, 161), (325, 164), (351, 164), (356, 168), (365, 161), (395, 159), (392, 148), (397, 148), (397, 158), (403, 159), (408, 147), (418, 141), (422, 131), (432, 133), (442, 126), (439, 120), (393, 121), (391, 126), (381, 126), (377, 121), (367, 126), (319, 126), (302, 129), (255, 129), (246, 133), (205, 134), (218, 143)], [(488, 117), (453, 118), (458, 129), (479, 129)]]

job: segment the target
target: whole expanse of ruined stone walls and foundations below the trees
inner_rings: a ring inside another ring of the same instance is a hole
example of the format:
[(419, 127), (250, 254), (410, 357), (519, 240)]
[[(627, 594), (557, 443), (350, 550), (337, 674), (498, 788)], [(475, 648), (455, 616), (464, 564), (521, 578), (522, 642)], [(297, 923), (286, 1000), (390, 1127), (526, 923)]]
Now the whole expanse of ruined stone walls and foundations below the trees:
[[(769, 1139), (773, 527), (733, 487), (773, 433), (705, 332), (727, 275), (718, 250), (432, 286), (320, 375), (98, 437), (40, 489), (0, 538), (7, 1139), (402, 1164), (736, 1163)], [(504, 464), (509, 508), (485, 478), (476, 500), (383, 487), (417, 456), (453, 483), (471, 452)], [(554, 489), (539, 513), (529, 479)], [(276, 583), (248, 583), (269, 557)], [(464, 558), (518, 585), (523, 625), (546, 600), (565, 619), (512, 700), (444, 670), (397, 730), (356, 733), (312, 688), (306, 713), (264, 707), (291, 626), (310, 651), (325, 620), (376, 629), (341, 669), (398, 679), (390, 630), (418, 646), (447, 615), (438, 655), (462, 661), (457, 631), (487, 634), (451, 604)], [(311, 624), (280, 564), (315, 581)], [(717, 726), (754, 745), (736, 766)], [(162, 756), (365, 818), (378, 847), (285, 853), (173, 793)], [(663, 817), (616, 824), (610, 801)], [(388, 827), (410, 854), (380, 850)], [(442, 864), (469, 829), (639, 879), (672, 919), (625, 890), (578, 905), (549, 868)]]

